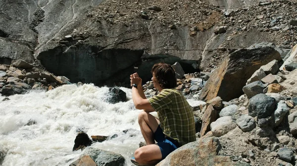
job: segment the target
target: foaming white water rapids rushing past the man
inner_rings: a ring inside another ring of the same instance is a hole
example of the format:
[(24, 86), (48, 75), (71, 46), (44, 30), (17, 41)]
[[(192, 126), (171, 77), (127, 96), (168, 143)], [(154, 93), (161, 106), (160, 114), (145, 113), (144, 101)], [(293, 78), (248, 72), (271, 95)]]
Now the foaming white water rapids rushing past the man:
[[(128, 101), (116, 104), (104, 102), (107, 87), (93, 84), (32, 91), (6, 101), (0, 96), (2, 166), (69, 166), (84, 152), (72, 151), (78, 131), (89, 137), (118, 134), (91, 147), (119, 153), (125, 157), (126, 166), (131, 166), (130, 158), (144, 141), (137, 121), (142, 110), (135, 109), (131, 89), (121, 89)], [(26, 125), (29, 120), (36, 124)], [(122, 131), (126, 129), (134, 130), (125, 134)]]

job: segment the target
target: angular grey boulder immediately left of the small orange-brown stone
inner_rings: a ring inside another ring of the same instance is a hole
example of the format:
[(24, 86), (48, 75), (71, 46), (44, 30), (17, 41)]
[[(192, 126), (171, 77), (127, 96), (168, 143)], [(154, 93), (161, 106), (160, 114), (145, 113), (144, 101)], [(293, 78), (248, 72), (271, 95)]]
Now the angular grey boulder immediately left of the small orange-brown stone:
[(244, 86), (243, 91), (247, 95), (247, 98), (251, 98), (257, 94), (262, 94), (265, 87), (261, 81), (255, 81)]

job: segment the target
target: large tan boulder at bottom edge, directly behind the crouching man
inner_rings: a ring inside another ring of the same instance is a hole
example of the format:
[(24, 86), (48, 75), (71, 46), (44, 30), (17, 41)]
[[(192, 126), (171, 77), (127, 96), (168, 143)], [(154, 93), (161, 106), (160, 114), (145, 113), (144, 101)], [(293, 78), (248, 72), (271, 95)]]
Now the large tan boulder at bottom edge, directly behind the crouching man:
[(156, 166), (239, 166), (229, 156), (218, 155), (220, 150), (218, 138), (200, 138), (173, 151)]

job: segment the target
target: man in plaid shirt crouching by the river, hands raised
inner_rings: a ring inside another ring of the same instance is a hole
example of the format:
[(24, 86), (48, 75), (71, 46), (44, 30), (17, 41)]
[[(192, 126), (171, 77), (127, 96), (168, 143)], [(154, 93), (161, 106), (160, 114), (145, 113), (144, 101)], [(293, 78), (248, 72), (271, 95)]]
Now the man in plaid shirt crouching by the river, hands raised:
[[(195, 141), (195, 121), (192, 107), (180, 91), (176, 90), (175, 71), (164, 63), (155, 64), (152, 81), (159, 94), (147, 99), (138, 73), (130, 75), (132, 99), (137, 109), (141, 132), (147, 142), (138, 148), (131, 162), (138, 166), (155, 165), (178, 147)], [(158, 118), (149, 112), (156, 111)], [(157, 143), (155, 143), (155, 141)]]

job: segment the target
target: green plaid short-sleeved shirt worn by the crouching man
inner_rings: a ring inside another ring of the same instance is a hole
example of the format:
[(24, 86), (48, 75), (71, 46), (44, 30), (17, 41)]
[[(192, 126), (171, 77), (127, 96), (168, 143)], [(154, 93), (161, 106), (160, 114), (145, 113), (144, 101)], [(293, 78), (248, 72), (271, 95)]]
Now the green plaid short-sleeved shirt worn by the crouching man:
[(180, 146), (196, 140), (193, 109), (176, 89), (163, 89), (148, 99), (157, 112), (163, 133), (177, 140)]

